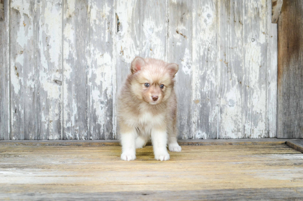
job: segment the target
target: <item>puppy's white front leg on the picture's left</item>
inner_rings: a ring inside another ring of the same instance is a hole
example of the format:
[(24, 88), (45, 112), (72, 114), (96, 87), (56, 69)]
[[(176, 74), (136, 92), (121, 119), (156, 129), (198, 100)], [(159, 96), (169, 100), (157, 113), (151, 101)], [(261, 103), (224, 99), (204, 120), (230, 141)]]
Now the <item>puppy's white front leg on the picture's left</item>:
[(136, 146), (135, 140), (137, 137), (136, 130), (126, 125), (120, 125), (121, 134), (120, 140), (122, 145), (122, 160), (134, 160), (136, 159)]

